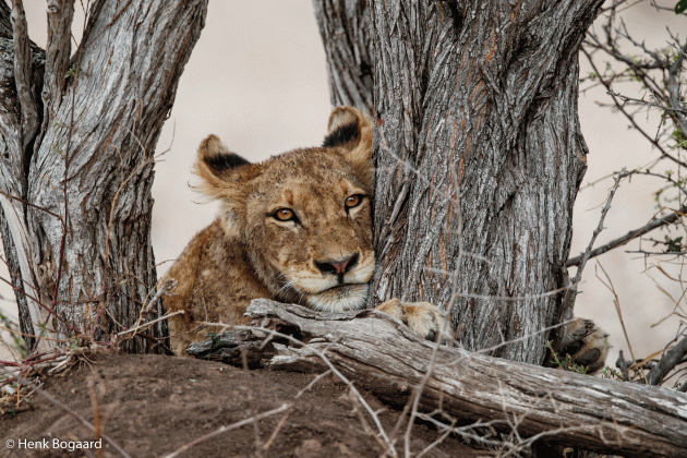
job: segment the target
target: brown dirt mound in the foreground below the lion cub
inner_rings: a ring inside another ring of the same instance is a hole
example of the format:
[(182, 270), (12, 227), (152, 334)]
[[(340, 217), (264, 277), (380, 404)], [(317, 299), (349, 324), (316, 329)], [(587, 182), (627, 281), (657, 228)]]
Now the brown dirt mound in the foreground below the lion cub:
[[(349, 396), (341, 382), (325, 376), (305, 389), (315, 374), (243, 371), (217, 362), (155, 354), (98, 353), (62, 375), (46, 381), (50, 395), (100, 425), (132, 457), (161, 457), (204, 435), (265, 412), (285, 410), (200, 441), (185, 457), (374, 457), (384, 453), (378, 429)], [(300, 396), (299, 396), (300, 395)], [(363, 393), (387, 434), (399, 412)], [(35, 410), (0, 415), (0, 457), (98, 456), (88, 446), (95, 434), (43, 396), (34, 395)], [(396, 448), (403, 446), (402, 427)], [(413, 426), (414, 454), (441, 434)], [(61, 444), (53, 448), (53, 441)], [(11, 444), (10, 441), (13, 441)], [(21, 441), (24, 441), (20, 443)], [(13, 445), (9, 448), (9, 445)], [(47, 448), (27, 448), (34, 447)], [(91, 446), (97, 445), (91, 443)], [(20, 448), (20, 446), (22, 446)], [(104, 456), (121, 456), (103, 442)], [(429, 457), (484, 456), (454, 438), (426, 453)]]

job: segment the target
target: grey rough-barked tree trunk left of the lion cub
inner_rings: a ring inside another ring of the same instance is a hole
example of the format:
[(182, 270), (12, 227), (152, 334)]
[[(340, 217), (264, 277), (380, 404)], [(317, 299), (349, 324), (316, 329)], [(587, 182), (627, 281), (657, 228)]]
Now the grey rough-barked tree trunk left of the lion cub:
[(31, 347), (110, 340), (154, 293), (155, 146), (206, 9), (96, 0), (72, 55), (74, 0), (48, 1), (46, 51), (0, 2), (0, 230)]

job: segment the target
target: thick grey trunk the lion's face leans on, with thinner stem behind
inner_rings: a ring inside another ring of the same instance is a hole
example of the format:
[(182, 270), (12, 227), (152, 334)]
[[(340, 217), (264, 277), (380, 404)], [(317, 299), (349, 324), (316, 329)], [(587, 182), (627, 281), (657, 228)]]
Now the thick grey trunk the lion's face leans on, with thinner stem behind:
[(543, 361), (541, 329), (571, 315), (552, 291), (586, 170), (578, 49), (602, 2), (314, 0), (333, 103), (367, 103), (355, 76), (373, 69), (373, 302), (448, 308), (469, 350), (531, 335), (494, 354)]

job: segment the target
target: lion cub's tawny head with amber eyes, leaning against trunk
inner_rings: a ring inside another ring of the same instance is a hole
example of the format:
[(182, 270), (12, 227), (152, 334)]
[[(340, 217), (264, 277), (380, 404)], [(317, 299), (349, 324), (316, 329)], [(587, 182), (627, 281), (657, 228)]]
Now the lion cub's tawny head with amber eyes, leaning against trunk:
[(230, 153), (214, 135), (198, 148), (201, 192), (220, 201), (228, 238), (274, 296), (312, 309), (366, 304), (372, 248), (372, 126), (354, 108), (332, 112), (322, 147), (262, 164)]

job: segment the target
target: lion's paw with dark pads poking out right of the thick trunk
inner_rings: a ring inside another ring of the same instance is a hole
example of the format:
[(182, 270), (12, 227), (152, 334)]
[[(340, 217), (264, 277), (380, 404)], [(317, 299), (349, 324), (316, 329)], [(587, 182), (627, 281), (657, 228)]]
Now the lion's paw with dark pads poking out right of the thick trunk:
[(587, 373), (593, 374), (604, 366), (608, 354), (608, 334), (596, 327), (594, 322), (575, 318), (564, 328), (561, 343), (554, 350), (561, 358), (569, 355), (575, 364), (587, 366)]

